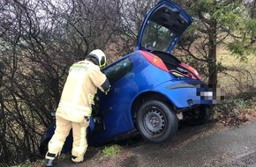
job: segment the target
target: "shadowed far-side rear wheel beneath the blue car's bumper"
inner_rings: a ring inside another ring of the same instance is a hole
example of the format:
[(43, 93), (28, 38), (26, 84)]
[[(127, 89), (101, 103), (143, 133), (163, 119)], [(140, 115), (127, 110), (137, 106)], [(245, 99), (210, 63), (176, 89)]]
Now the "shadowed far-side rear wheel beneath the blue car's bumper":
[(200, 105), (184, 114), (184, 123), (189, 126), (202, 125), (211, 117), (211, 109), (207, 105)]

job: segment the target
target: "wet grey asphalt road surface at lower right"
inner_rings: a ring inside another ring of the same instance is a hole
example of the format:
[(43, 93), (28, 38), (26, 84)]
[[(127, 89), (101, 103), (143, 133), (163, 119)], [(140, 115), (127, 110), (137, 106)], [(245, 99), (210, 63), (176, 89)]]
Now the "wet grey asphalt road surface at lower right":
[[(256, 122), (221, 131), (194, 128), (198, 132), (191, 132), (186, 140), (185, 132), (178, 134), (172, 140), (177, 145), (146, 144), (134, 148), (136, 166), (256, 166)], [(177, 140), (184, 141), (177, 143)]]

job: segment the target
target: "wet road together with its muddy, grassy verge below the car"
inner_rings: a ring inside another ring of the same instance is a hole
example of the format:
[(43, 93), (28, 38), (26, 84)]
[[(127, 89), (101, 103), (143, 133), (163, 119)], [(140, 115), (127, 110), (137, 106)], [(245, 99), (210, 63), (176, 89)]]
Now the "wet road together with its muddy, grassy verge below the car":
[(127, 142), (117, 157), (99, 159), (87, 152), (84, 163), (65, 160), (57, 166), (87, 167), (256, 167), (256, 120), (239, 127), (214, 123), (188, 127), (181, 125), (168, 143), (152, 144), (143, 140)]

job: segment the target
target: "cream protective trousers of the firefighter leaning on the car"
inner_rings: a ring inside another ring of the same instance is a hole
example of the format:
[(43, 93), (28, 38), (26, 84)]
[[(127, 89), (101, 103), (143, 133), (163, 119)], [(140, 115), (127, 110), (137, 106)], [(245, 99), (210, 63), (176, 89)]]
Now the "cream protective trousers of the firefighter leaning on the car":
[(84, 155), (87, 151), (87, 127), (89, 126), (89, 119), (85, 119), (82, 122), (72, 122), (70, 120), (64, 120), (61, 117), (56, 116), (56, 130), (55, 134), (49, 141), (48, 152), (45, 156), (46, 159), (55, 159), (60, 154), (65, 139), (70, 134), (72, 129), (73, 145), (72, 145), (72, 161), (82, 162)]

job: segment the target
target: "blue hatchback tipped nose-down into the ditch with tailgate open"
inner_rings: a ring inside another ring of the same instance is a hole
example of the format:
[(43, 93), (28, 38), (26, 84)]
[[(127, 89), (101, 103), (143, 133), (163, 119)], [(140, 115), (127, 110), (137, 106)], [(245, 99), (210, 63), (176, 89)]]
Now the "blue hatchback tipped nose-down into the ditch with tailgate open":
[[(103, 73), (111, 89), (97, 93), (88, 129), (88, 144), (101, 145), (140, 134), (149, 142), (167, 142), (177, 133), (179, 121), (205, 123), (216, 92), (200, 80), (198, 72), (180, 62), (170, 51), (190, 17), (177, 4), (162, 0), (147, 13), (131, 54), (112, 62)], [(55, 121), (41, 138), (41, 153), (54, 134)], [(72, 134), (63, 152), (72, 149)]]

